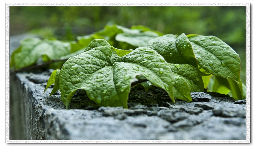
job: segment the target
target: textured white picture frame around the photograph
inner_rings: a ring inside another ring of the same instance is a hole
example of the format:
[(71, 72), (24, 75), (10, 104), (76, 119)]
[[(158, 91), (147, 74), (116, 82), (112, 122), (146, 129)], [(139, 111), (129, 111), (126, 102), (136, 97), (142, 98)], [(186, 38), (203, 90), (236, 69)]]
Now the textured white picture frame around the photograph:
[[(10, 140), (10, 6), (246, 6), (246, 140)], [(250, 3), (6, 3), (5, 4), (5, 143), (250, 143), (251, 142)]]

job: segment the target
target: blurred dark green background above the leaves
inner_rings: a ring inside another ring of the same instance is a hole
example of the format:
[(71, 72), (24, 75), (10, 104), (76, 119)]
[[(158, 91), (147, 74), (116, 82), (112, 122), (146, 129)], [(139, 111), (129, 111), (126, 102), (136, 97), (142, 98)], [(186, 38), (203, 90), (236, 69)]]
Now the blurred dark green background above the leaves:
[(246, 6), (10, 6), (10, 35), (76, 40), (106, 24), (144, 25), (164, 34), (214, 35), (241, 58), (246, 82)]

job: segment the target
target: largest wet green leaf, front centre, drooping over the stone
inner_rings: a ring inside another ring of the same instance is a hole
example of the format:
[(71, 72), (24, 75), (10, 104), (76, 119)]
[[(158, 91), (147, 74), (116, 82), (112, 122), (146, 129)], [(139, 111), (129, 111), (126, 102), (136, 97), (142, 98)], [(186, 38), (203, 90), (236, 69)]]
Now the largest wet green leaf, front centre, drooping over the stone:
[(127, 108), (131, 83), (138, 75), (143, 75), (153, 85), (165, 89), (174, 102), (172, 71), (157, 52), (140, 47), (120, 57), (113, 65), (110, 62), (111, 56), (112, 50), (101, 46), (65, 62), (60, 70), (59, 87), (66, 107), (76, 90), (84, 89), (87, 96), (99, 106)]

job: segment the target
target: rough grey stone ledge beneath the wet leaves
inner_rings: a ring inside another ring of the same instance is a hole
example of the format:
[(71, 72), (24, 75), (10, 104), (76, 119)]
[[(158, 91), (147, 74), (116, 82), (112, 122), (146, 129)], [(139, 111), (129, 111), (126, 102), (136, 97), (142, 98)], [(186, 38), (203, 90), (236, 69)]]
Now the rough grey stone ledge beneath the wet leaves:
[(160, 88), (134, 88), (124, 109), (79, 90), (66, 110), (53, 85), (42, 94), (51, 72), (10, 77), (10, 140), (246, 140), (245, 100), (199, 92), (173, 103)]

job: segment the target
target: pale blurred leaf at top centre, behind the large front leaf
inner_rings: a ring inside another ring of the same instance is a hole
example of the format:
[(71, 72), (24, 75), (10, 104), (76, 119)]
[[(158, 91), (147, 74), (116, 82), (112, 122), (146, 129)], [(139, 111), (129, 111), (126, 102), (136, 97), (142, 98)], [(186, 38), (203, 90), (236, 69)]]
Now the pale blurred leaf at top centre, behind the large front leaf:
[(116, 41), (127, 42), (135, 47), (147, 47), (148, 41), (157, 38), (159, 35), (152, 31), (145, 31), (143, 33), (119, 33), (116, 35)]

